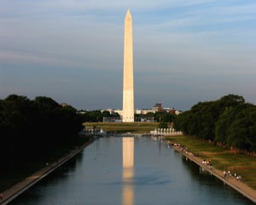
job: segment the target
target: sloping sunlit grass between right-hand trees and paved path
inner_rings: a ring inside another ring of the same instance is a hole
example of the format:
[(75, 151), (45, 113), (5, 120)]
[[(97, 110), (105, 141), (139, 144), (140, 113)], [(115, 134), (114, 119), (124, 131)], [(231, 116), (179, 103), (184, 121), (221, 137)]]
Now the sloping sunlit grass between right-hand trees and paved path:
[(230, 170), (232, 173), (241, 174), (242, 181), (256, 190), (256, 158), (243, 154), (234, 154), (219, 146), (207, 143), (204, 140), (189, 136), (166, 137), (173, 143), (179, 143), (201, 158), (210, 158), (214, 168)]

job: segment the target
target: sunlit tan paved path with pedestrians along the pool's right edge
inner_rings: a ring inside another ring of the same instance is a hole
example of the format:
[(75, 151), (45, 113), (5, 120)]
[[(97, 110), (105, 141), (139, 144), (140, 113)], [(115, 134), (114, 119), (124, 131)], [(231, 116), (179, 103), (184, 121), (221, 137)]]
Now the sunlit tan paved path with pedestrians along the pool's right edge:
[(172, 146), (172, 148), (182, 153), (183, 156), (188, 157), (191, 161), (197, 163), (201, 168), (206, 169), (209, 173), (222, 180), (225, 184), (230, 185), (230, 187), (240, 192), (243, 196), (246, 196), (252, 202), (256, 203), (256, 190), (253, 190), (253, 188), (251, 188), (250, 186), (239, 180), (236, 180), (234, 177), (229, 179), (224, 178), (223, 171), (220, 171), (213, 167), (209, 168), (207, 165), (202, 164), (203, 159), (201, 159), (200, 157), (195, 157), (195, 155), (191, 154), (190, 152), (183, 151), (183, 149), (179, 149), (177, 146)]

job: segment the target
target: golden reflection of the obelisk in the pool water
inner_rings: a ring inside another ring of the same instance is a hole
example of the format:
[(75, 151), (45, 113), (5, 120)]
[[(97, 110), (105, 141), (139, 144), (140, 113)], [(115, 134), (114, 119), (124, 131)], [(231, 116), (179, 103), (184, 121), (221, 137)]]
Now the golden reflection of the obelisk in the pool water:
[(134, 204), (134, 137), (123, 138), (123, 205)]

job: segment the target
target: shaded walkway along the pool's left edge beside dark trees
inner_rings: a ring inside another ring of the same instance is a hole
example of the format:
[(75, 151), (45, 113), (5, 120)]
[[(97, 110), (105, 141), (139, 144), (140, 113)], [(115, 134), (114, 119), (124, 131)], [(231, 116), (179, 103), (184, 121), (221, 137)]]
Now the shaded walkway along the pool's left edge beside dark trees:
[(79, 152), (84, 150), (84, 147), (89, 145), (92, 141), (89, 141), (85, 143), (84, 145), (81, 145), (79, 147), (76, 147), (75, 150), (71, 151), (67, 156), (62, 157), (57, 162), (53, 162), (46, 166), (45, 168), (42, 168), (38, 172), (32, 174), (30, 177), (27, 177), (26, 179), (23, 179), (16, 185), (13, 185), (8, 190), (3, 191), (3, 197), (0, 198), (0, 204), (5, 205), (11, 202), (15, 199), (15, 197), (22, 194), (24, 191), (32, 187), (32, 185), (35, 185), (38, 183), (39, 180), (44, 179), (48, 174), (53, 172), (56, 168), (59, 168), (63, 163), (67, 162), (68, 160), (75, 157)]

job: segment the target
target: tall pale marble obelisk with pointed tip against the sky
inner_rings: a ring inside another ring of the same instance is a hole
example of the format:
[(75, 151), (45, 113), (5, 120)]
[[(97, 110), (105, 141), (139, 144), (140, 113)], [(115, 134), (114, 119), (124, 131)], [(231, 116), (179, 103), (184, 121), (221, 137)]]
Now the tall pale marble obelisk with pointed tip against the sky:
[(125, 15), (123, 122), (134, 122), (133, 96), (132, 18), (128, 9)]

